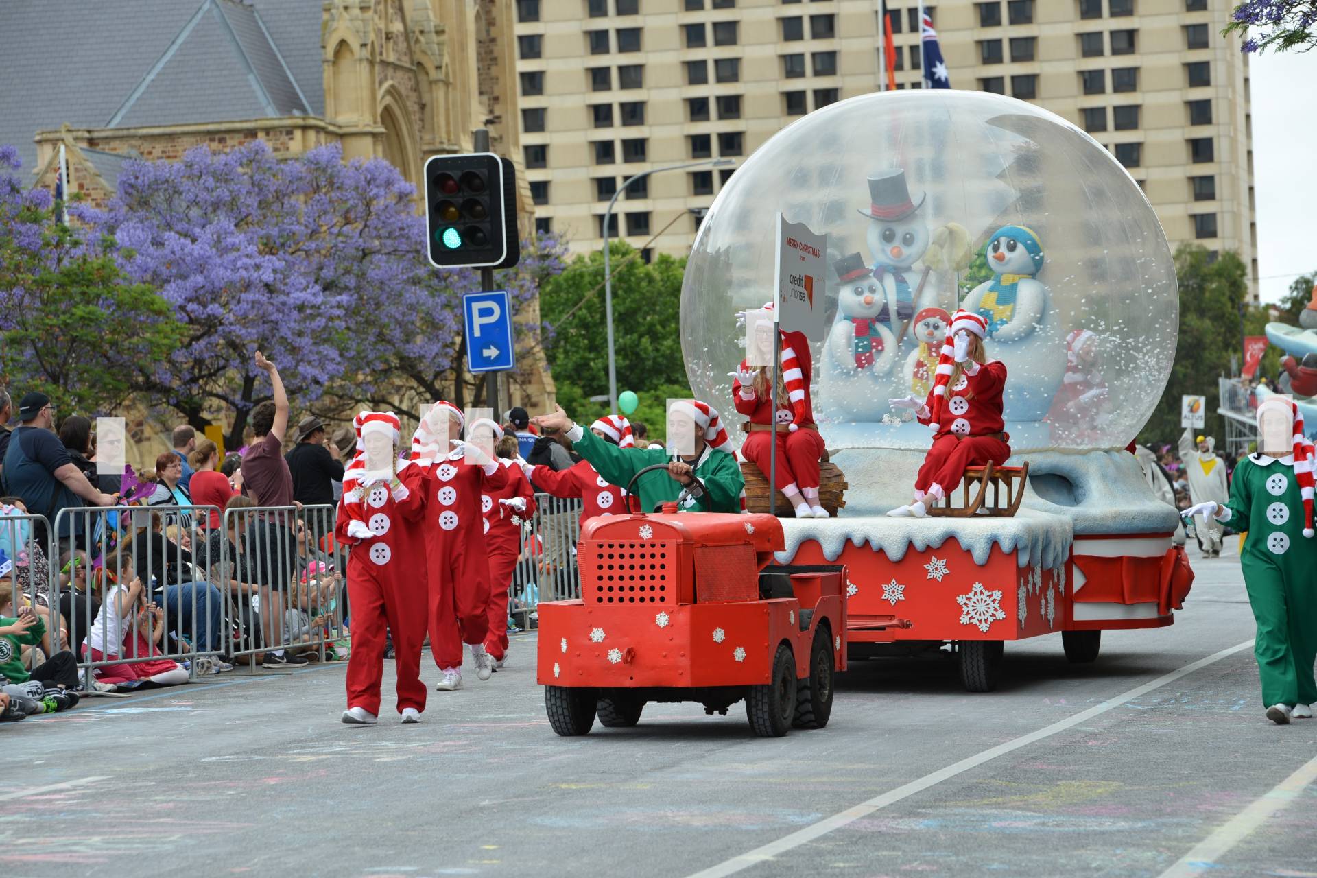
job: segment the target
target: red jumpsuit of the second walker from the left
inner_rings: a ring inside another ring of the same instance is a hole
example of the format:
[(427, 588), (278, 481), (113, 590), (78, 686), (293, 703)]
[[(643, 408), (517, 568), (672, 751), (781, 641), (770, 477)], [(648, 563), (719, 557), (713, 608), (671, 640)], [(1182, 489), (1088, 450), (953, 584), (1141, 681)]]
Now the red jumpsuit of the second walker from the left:
[(490, 566), (481, 496), (506, 484), (506, 467), (495, 463), (493, 473), (485, 473), (461, 452), (424, 467), (429, 652), (440, 670), (461, 667), (462, 644), (483, 644), (489, 633)]

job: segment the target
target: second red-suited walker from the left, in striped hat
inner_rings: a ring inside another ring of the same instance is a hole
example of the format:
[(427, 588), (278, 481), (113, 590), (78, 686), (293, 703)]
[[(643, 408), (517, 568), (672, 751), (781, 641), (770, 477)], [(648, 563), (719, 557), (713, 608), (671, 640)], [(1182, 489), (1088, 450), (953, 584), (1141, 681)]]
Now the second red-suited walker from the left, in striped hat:
[[(489, 633), (490, 566), (481, 498), (507, 484), (507, 469), (475, 442), (457, 437), (465, 423), (452, 403), (435, 403), (412, 437), (412, 463), (424, 478), (425, 554), (429, 563), (429, 649), (443, 679), (440, 692), (462, 687), (462, 644), (471, 650), (475, 677), (494, 671), (485, 652)], [(468, 433), (493, 437), (499, 426), (478, 419)], [(449, 450), (452, 449), (452, 450)]]

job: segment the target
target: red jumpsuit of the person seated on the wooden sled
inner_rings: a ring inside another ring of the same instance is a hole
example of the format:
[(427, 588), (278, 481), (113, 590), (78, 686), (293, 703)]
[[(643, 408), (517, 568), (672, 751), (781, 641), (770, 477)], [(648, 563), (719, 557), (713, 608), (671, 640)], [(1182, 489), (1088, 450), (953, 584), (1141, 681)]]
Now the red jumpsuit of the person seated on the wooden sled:
[[(919, 475), (914, 480), (915, 496), (931, 494), (938, 499), (956, 490), (965, 469), (982, 466), (988, 461), (1001, 466), (1010, 457), (1010, 446), (1002, 438), (1001, 392), (1006, 387), (1006, 366), (990, 361), (975, 375), (963, 374), (955, 387), (947, 388), (942, 412), (942, 430), (932, 437), (932, 448), (923, 458)], [(928, 392), (919, 415), (921, 424), (931, 423), (934, 395)]]

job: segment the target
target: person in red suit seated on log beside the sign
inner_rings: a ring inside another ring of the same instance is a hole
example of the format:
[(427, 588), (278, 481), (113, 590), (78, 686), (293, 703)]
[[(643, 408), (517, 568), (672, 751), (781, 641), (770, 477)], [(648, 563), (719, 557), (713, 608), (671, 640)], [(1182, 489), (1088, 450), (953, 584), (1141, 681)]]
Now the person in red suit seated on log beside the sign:
[[(764, 305), (772, 311), (773, 303)], [(810, 379), (814, 365), (810, 342), (799, 332), (782, 332), (777, 373), (777, 404), (773, 412), (773, 370), (768, 366), (751, 367), (741, 359), (731, 373), (732, 399), (736, 411), (749, 417), (749, 436), (741, 445), (741, 455), (759, 467), (766, 478), (776, 475), (776, 487), (795, 509), (797, 519), (826, 519), (827, 509), (819, 505), (819, 459), (823, 457), (823, 437), (814, 424), (810, 401)], [(772, 336), (769, 336), (772, 338)], [(772, 351), (772, 346), (768, 348)], [(772, 359), (772, 353), (769, 353)], [(777, 469), (772, 469), (769, 455), (777, 441)]]

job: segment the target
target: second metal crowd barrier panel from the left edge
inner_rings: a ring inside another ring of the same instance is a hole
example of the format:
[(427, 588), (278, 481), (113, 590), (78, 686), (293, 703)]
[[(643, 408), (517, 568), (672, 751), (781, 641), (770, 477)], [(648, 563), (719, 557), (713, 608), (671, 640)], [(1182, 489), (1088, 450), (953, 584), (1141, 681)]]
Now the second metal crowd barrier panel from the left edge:
[[(126, 688), (134, 674), (104, 669), (173, 659), (196, 677), (196, 659), (224, 653), (228, 613), (211, 558), (217, 520), (213, 505), (59, 511), (43, 546), (50, 621), (68, 632), (67, 648), (84, 674)], [(125, 606), (121, 590), (134, 579), (141, 588)]]

